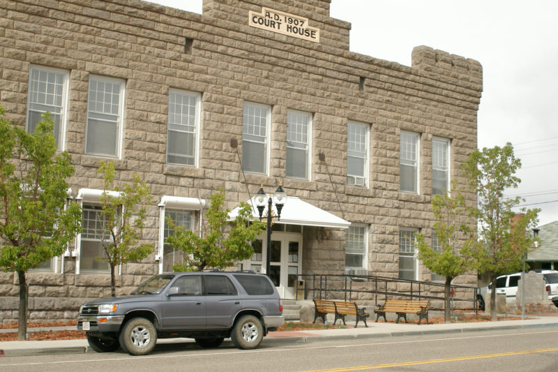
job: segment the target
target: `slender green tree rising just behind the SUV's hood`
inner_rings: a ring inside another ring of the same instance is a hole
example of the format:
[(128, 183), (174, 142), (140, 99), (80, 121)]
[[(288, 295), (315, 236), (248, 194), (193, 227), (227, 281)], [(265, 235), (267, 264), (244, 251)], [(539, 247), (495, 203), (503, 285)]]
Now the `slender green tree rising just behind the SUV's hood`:
[(153, 251), (152, 244), (138, 244), (145, 225), (146, 205), (151, 204), (151, 190), (138, 174), (134, 174), (131, 184), (115, 186), (112, 161), (101, 161), (99, 172), (103, 174), (100, 218), (108, 235), (102, 244), (110, 267), (111, 294), (116, 296), (116, 267), (143, 260)]

